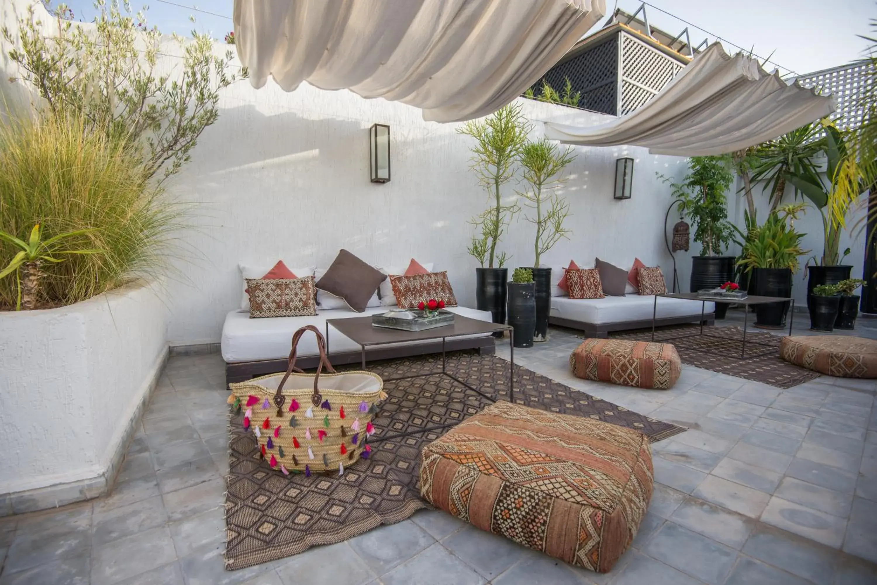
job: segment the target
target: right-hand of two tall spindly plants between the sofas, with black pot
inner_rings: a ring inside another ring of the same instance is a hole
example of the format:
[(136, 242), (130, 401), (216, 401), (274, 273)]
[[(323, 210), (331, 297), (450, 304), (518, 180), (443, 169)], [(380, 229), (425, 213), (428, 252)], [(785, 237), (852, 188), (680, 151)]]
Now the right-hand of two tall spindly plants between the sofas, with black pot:
[(525, 204), (532, 210), (524, 219), (536, 226), (531, 268), (533, 282), (536, 283), (535, 341), (548, 340), (548, 313), (551, 311), (551, 268), (540, 267), (539, 260), (542, 254), (570, 232), (563, 226), (569, 215), (569, 203), (558, 196), (556, 189), (564, 181), (560, 174), (574, 158), (572, 146), (561, 150), (557, 143), (547, 139), (528, 141), (521, 149), (519, 158), (528, 187), (524, 191), (517, 191), (517, 194), (524, 198)]

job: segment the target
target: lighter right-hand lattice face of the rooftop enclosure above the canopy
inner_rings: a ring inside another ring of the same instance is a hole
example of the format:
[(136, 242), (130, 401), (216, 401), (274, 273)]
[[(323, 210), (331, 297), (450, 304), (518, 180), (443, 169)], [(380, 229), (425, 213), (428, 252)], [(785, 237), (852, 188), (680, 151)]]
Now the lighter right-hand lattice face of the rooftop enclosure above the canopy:
[(682, 63), (622, 32), (621, 111), (624, 115), (648, 102), (683, 67)]

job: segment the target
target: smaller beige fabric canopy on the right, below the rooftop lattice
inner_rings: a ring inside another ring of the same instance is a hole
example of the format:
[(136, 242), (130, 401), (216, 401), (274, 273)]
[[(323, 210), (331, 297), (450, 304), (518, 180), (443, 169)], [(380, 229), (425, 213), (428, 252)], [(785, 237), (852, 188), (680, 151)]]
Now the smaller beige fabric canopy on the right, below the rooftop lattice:
[(695, 56), (657, 96), (606, 124), (545, 123), (545, 137), (587, 146), (646, 146), (655, 154), (731, 153), (774, 139), (834, 111), (831, 96), (768, 74), (719, 43)]

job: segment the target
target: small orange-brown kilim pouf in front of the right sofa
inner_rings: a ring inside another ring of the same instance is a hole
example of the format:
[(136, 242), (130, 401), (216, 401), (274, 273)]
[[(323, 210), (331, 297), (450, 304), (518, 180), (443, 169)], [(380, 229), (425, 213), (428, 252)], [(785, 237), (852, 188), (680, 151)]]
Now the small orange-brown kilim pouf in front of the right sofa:
[(682, 362), (669, 343), (585, 339), (570, 354), (569, 367), (586, 380), (666, 390), (679, 380)]

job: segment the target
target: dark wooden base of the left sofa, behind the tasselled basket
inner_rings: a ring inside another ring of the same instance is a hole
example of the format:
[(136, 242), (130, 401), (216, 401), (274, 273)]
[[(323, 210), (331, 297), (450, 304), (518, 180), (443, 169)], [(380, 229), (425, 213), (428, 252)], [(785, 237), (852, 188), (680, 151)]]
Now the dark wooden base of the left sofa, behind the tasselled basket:
[[(496, 343), (492, 337), (479, 337), (473, 339), (447, 339), (445, 349), (448, 352), (458, 351), (461, 349), (475, 349), (481, 355), (489, 355), (496, 353)], [(366, 358), (368, 361), (374, 360), (395, 360), (396, 358), (409, 358), (415, 355), (425, 355), (427, 353), (440, 353), (441, 341), (427, 341), (425, 343), (410, 344), (407, 346), (381, 347), (375, 346), (366, 350)], [(318, 355), (303, 356), (298, 358), (296, 366), (307, 369), (309, 367), (317, 367), (319, 363)], [(341, 366), (343, 364), (358, 364), (362, 358), (362, 354), (357, 351), (347, 351), (339, 353), (329, 353), (329, 360), (333, 366)], [(260, 375), (276, 374), (277, 372), (285, 372), (287, 360), (258, 360), (258, 361), (236, 361), (225, 363), (225, 383), (232, 384), (234, 382), (244, 382)]]

